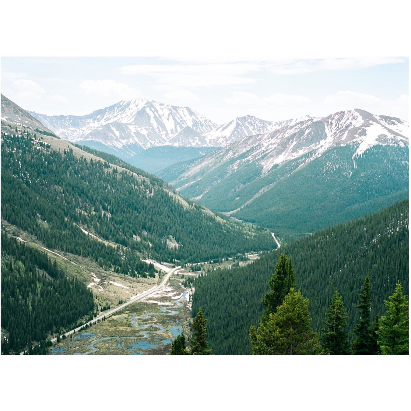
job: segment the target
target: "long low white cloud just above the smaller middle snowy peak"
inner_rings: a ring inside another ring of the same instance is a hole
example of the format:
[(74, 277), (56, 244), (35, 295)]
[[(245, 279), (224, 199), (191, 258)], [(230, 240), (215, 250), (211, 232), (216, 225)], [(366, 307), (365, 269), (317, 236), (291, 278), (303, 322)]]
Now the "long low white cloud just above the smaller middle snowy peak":
[(252, 106), (299, 106), (309, 104), (311, 99), (297, 94), (273, 93), (268, 97), (258, 97), (256, 94), (246, 91), (236, 91), (226, 99), (227, 104), (252, 105)]

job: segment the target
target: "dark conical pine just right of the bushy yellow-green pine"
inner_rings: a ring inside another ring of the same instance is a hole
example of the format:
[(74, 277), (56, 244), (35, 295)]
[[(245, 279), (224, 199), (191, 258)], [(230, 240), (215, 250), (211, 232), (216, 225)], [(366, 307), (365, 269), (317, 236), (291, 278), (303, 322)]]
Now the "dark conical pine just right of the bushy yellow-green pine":
[(331, 304), (326, 311), (327, 321), (324, 324), (327, 328), (323, 331), (321, 343), (327, 353), (332, 355), (349, 354), (350, 344), (348, 332), (344, 330), (347, 326), (347, 312), (342, 302), (342, 297), (338, 291), (334, 291)]

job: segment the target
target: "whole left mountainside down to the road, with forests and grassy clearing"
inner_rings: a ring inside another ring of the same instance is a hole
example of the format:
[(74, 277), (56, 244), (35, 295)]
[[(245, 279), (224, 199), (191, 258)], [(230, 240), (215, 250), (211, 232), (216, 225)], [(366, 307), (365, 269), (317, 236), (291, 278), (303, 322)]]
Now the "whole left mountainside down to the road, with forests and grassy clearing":
[(276, 247), (267, 229), (217, 215), (113, 155), (57, 138), (3, 96), (0, 175), (2, 354), (38, 345), (46, 353), (62, 330), (150, 294), (168, 278), (152, 260), (178, 270)]

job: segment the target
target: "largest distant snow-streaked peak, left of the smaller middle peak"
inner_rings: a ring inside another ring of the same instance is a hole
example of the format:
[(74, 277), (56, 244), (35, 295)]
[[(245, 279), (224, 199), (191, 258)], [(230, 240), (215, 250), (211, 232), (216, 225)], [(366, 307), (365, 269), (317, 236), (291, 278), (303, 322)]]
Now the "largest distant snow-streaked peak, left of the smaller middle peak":
[(146, 99), (121, 101), (83, 116), (31, 114), (64, 139), (91, 140), (117, 149), (135, 144), (143, 149), (159, 146), (187, 126), (199, 134), (217, 127), (189, 107)]

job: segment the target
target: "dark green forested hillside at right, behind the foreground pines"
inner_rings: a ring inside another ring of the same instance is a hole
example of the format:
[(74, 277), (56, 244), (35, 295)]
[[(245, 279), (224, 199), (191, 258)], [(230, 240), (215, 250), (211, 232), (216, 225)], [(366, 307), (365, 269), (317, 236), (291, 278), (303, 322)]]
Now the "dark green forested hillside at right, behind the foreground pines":
[(203, 307), (208, 339), (216, 354), (250, 353), (248, 330), (258, 326), (261, 300), (279, 255), (291, 256), (296, 282), (309, 299), (314, 331), (325, 320), (335, 289), (348, 312), (349, 335), (358, 321), (358, 295), (370, 276), (371, 317), (384, 313), (383, 300), (397, 281), (409, 289), (409, 201), (404, 200), (372, 215), (332, 226), (293, 241), (245, 267), (216, 270), (194, 281), (192, 312)]

